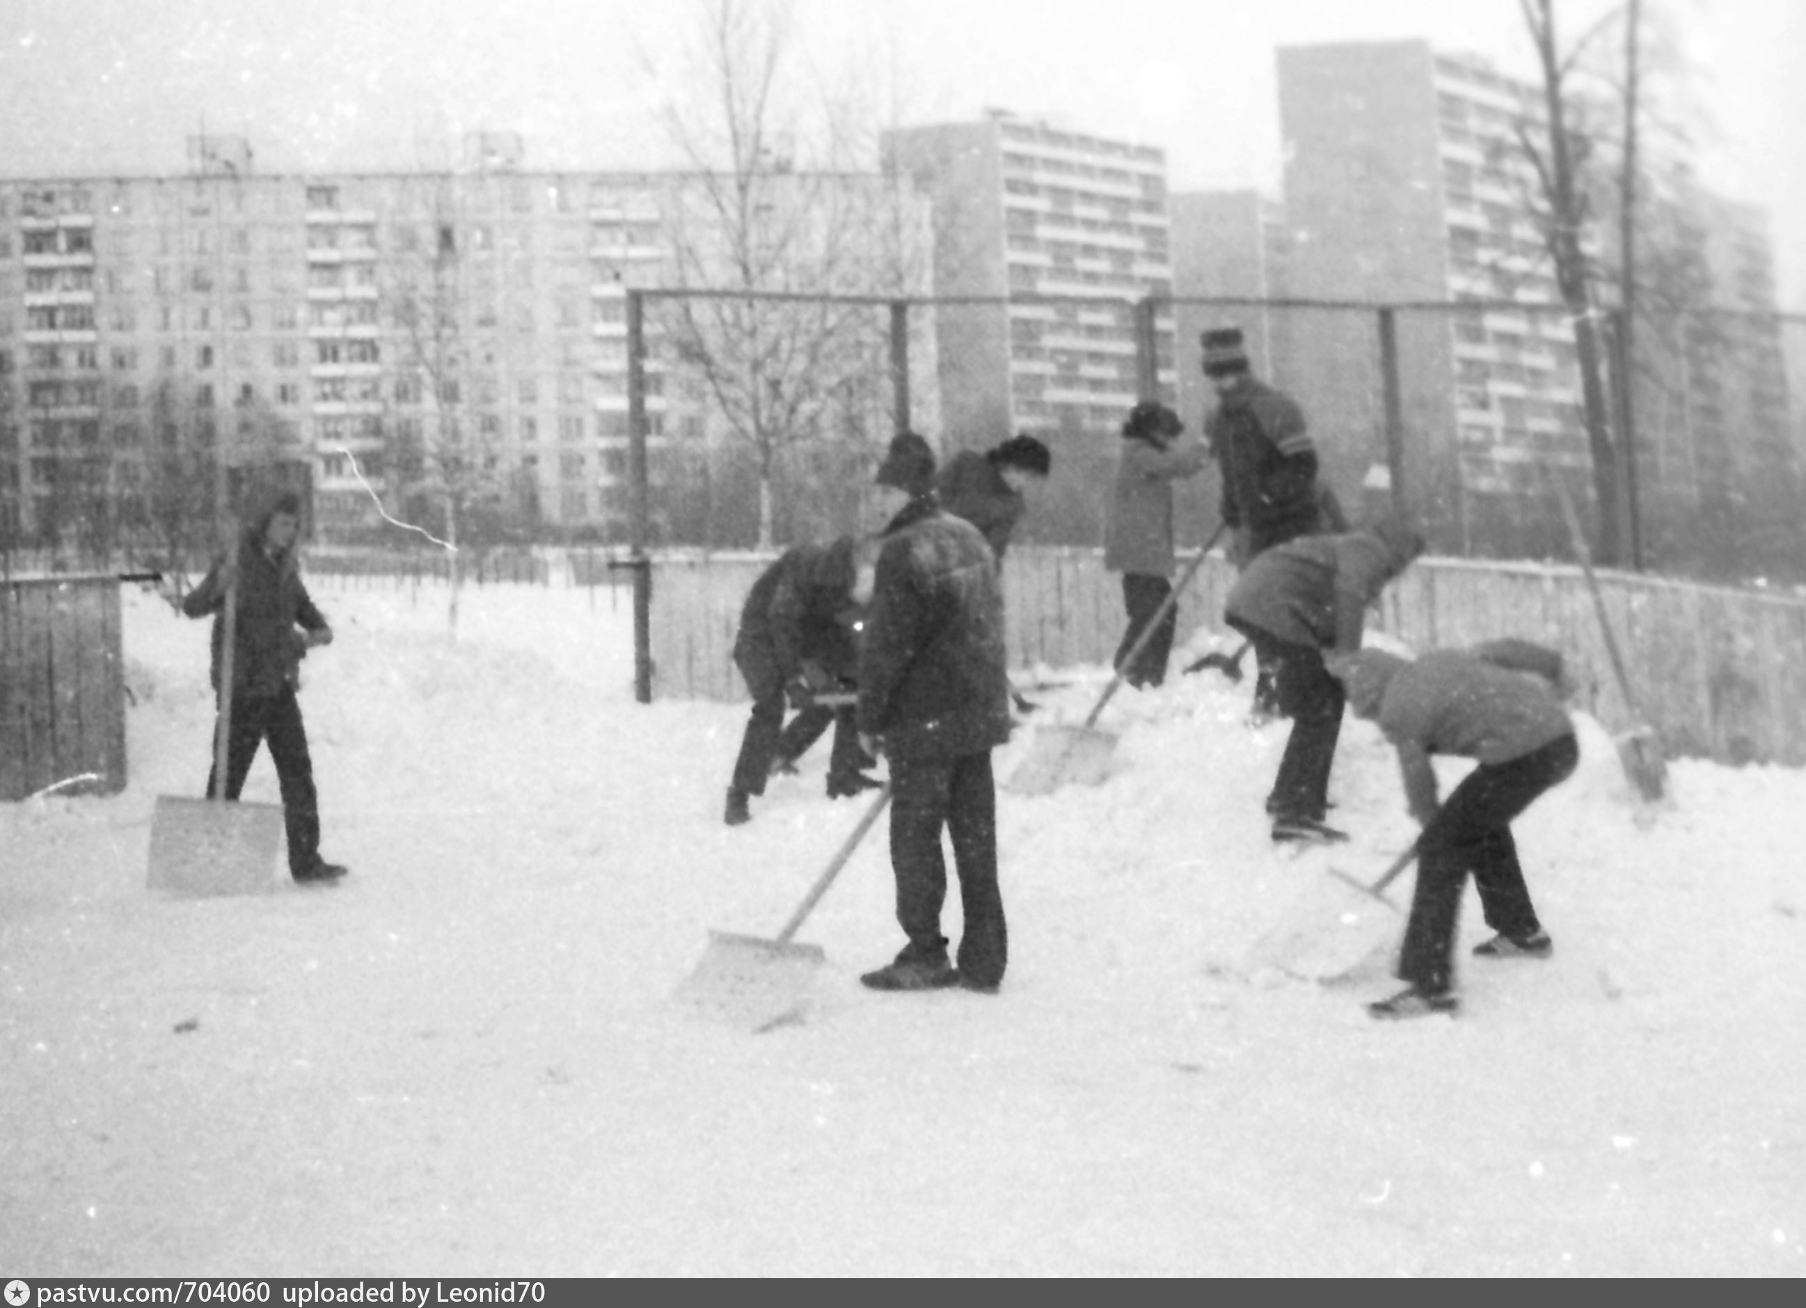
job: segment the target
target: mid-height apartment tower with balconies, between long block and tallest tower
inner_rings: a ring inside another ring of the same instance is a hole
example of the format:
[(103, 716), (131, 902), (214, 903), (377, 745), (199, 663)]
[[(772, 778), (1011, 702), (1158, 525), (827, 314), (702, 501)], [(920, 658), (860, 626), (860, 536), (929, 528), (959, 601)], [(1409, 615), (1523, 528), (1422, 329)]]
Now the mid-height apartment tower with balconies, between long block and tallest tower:
[[(1096, 540), (1100, 468), (1140, 397), (1134, 304), (1172, 293), (1165, 152), (993, 110), (887, 134), (936, 211), (941, 412), (952, 446), (1026, 430), (1055, 450), (1029, 531)], [(1172, 322), (1156, 320), (1172, 397)]]

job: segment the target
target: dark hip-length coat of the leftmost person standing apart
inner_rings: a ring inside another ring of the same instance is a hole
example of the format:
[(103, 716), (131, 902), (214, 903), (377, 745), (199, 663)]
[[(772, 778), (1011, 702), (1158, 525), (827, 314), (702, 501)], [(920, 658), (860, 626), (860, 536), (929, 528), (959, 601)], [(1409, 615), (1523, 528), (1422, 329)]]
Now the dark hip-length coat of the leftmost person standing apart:
[[(238, 537), (238, 614), (233, 640), (233, 696), (275, 696), (300, 681), (307, 654), (305, 631), (327, 631), (327, 620), (314, 607), (294, 551), (271, 555), (264, 547), (267, 520)], [(190, 618), (213, 614), (213, 688), (220, 688), (220, 654), (226, 645), (226, 587), (215, 564), (193, 591), (182, 598)]]

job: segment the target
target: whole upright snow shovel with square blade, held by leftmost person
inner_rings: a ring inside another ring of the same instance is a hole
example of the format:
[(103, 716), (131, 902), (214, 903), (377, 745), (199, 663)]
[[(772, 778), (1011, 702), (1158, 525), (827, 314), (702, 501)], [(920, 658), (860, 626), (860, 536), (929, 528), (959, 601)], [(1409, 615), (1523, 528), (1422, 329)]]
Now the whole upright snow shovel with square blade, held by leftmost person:
[[(229, 549), (237, 535), (228, 522)], [(231, 739), (233, 643), (238, 584), (226, 587), (220, 632), (219, 717), (213, 732), (213, 789), (208, 799), (159, 795), (150, 818), (152, 891), (182, 896), (258, 894), (273, 889), (282, 844), (282, 806), (226, 799), (226, 744)]]

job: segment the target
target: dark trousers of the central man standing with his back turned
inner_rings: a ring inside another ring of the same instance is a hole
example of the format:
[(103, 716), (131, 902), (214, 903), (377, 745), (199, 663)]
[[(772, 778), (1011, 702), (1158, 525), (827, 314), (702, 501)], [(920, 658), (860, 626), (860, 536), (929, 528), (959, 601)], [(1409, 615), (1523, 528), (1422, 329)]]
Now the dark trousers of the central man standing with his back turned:
[(997, 788), (990, 750), (957, 759), (890, 759), (890, 867), (898, 880), (898, 925), (908, 936), (899, 959), (946, 958), (943, 827), (954, 844), (966, 920), (955, 963), (973, 981), (999, 985), (1010, 961), (1010, 938), (997, 889)]

